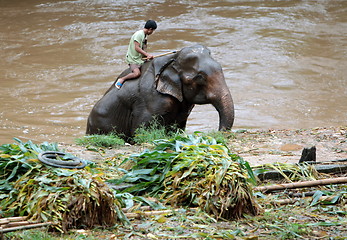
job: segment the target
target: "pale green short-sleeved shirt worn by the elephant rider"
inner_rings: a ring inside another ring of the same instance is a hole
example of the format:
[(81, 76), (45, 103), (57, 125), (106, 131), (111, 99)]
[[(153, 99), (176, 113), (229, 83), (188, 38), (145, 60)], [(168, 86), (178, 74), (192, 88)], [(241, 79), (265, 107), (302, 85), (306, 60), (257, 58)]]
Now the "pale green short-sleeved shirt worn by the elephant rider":
[(130, 39), (129, 46), (128, 46), (128, 52), (126, 55), (126, 62), (128, 64), (138, 64), (141, 65), (144, 63), (144, 60), (142, 60), (142, 54), (137, 52), (135, 50), (135, 44), (134, 41), (140, 43), (140, 48), (143, 47), (143, 42), (146, 38), (145, 32), (143, 30), (139, 30), (133, 34), (133, 36)]

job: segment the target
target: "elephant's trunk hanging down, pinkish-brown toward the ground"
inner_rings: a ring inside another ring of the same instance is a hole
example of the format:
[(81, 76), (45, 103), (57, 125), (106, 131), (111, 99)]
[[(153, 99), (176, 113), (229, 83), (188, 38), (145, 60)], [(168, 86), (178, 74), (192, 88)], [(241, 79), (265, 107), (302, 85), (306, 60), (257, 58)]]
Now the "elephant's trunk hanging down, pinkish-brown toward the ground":
[(234, 124), (234, 102), (229, 92), (226, 89), (219, 100), (212, 103), (219, 114), (219, 131), (230, 130)]

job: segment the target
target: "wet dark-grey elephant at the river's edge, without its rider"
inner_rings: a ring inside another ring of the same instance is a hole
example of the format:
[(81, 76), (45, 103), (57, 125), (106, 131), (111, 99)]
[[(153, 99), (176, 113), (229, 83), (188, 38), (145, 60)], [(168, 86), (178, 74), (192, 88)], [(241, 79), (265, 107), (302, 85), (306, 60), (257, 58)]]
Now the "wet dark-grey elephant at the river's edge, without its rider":
[(212, 104), (219, 113), (219, 130), (231, 129), (233, 100), (220, 64), (206, 47), (195, 45), (155, 58), (146, 62), (141, 72), (120, 90), (112, 84), (92, 109), (87, 134), (116, 132), (131, 138), (155, 116), (164, 126), (176, 124), (185, 129), (195, 104)]

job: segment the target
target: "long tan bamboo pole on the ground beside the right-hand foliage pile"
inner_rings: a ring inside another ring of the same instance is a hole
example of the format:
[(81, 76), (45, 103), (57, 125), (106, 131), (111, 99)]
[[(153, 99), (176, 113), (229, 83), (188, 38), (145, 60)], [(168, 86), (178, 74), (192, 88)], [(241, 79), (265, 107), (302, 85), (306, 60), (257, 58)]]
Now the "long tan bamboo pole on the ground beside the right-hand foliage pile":
[(253, 190), (268, 193), (268, 192), (272, 192), (276, 190), (315, 187), (320, 185), (341, 184), (341, 183), (347, 183), (347, 177), (328, 178), (328, 179), (321, 179), (321, 180), (314, 180), (314, 181), (294, 182), (294, 183), (285, 183), (285, 184), (275, 184), (270, 186), (256, 187)]

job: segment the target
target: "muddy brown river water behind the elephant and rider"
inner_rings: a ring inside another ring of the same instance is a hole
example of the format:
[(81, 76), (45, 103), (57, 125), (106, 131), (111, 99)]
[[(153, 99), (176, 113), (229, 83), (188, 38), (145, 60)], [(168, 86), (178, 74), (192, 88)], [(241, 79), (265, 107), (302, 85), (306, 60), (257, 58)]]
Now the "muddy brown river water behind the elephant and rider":
[[(147, 19), (153, 55), (210, 48), (234, 130), (346, 125), (346, 0), (0, 0), (0, 144), (84, 136)], [(194, 108), (188, 132), (217, 128), (211, 105)]]

